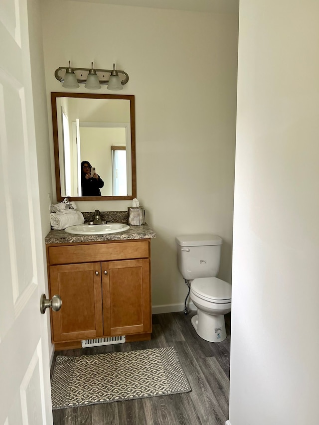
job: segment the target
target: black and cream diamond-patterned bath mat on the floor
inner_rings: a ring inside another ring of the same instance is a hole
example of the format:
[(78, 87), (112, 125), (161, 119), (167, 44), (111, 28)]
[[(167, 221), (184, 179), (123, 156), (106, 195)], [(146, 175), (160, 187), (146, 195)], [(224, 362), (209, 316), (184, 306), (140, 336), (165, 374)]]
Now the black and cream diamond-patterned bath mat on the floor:
[(173, 347), (57, 356), (52, 408), (86, 406), (191, 391)]

